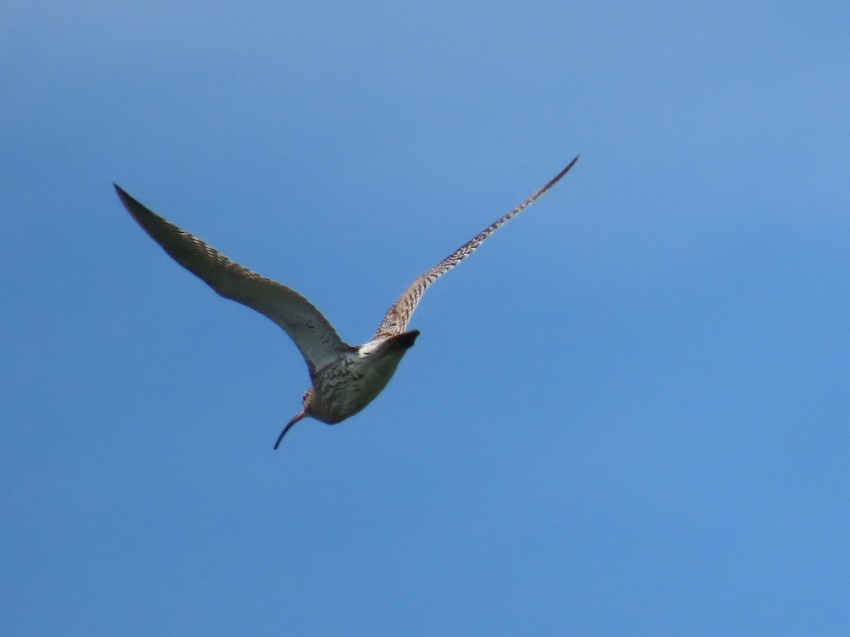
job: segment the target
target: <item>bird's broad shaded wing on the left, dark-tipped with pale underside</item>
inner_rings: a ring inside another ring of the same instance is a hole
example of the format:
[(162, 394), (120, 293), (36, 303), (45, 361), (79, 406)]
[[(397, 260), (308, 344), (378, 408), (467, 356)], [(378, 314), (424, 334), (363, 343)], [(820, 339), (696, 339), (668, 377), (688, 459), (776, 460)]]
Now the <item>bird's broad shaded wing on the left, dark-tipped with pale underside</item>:
[(127, 211), (174, 261), (221, 296), (251, 307), (280, 325), (307, 361), (311, 379), (316, 369), (337, 354), (354, 350), (343, 343), (319, 310), (295, 290), (230, 261), (197, 237), (142, 206), (119, 186), (115, 189)]

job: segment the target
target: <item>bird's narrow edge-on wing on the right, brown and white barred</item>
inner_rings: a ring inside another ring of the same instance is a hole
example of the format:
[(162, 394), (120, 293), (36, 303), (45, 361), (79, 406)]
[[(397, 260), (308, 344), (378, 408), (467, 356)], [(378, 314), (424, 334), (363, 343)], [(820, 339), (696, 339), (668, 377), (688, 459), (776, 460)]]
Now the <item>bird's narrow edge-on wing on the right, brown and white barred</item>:
[(484, 228), (484, 230), (473, 237), (472, 240), (459, 247), (449, 256), (446, 256), (445, 259), (411, 283), (410, 287), (405, 290), (404, 294), (399, 296), (399, 300), (394, 302), (393, 307), (390, 307), (388, 312), (384, 315), (383, 320), (378, 326), (377, 332), (373, 338), (377, 339), (380, 336), (401, 334), (404, 332), (407, 329), (408, 321), (411, 320), (411, 316), (413, 315), (414, 310), (416, 310), (416, 305), (418, 305), (419, 300), (422, 298), (422, 294), (424, 294), (425, 290), (428, 289), (428, 285), (431, 285), (434, 281), (439, 279), (440, 276), (447, 273), (451, 268), (454, 268), (458, 263), (462, 262), (463, 259), (476, 251), (479, 245), (484, 243), (484, 240), (487, 239), (490, 234), (496, 232), (503, 223), (509, 221), (513, 217), (516, 217), (520, 212), (524, 211), (525, 208), (533, 204), (541, 196), (541, 194), (545, 193), (548, 189), (558, 183), (558, 179), (564, 177), (570, 168), (575, 166), (576, 161), (579, 161), (578, 155), (575, 156), (573, 161), (570, 161), (570, 164), (564, 168), (564, 170), (558, 172), (558, 174), (555, 175), (549, 183), (543, 186), (543, 188), (538, 190), (535, 194), (532, 194), (527, 200), (524, 200), (519, 206), (508, 212), (507, 215), (501, 217), (498, 221), (491, 223), (487, 228)]

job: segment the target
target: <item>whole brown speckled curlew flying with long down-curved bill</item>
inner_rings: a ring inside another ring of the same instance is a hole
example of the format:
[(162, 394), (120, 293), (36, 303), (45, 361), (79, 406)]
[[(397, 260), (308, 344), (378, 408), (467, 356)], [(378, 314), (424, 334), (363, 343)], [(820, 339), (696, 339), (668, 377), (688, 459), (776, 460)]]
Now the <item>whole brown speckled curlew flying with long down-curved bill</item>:
[(302, 418), (309, 416), (335, 425), (371, 403), (387, 386), (401, 357), (419, 335), (419, 330), (407, 331), (407, 324), (428, 285), (471, 255), (503, 223), (533, 204), (558, 183), (578, 159), (576, 156), (543, 188), (413, 281), (384, 314), (371, 341), (356, 347), (343, 342), (324, 315), (295, 290), (230, 261), (114, 185), (133, 219), (174, 261), (224, 298), (240, 302), (270, 318), (295, 341), (307, 363), (312, 386), (303, 395), (301, 411), (280, 432), (276, 449), (286, 431)]

